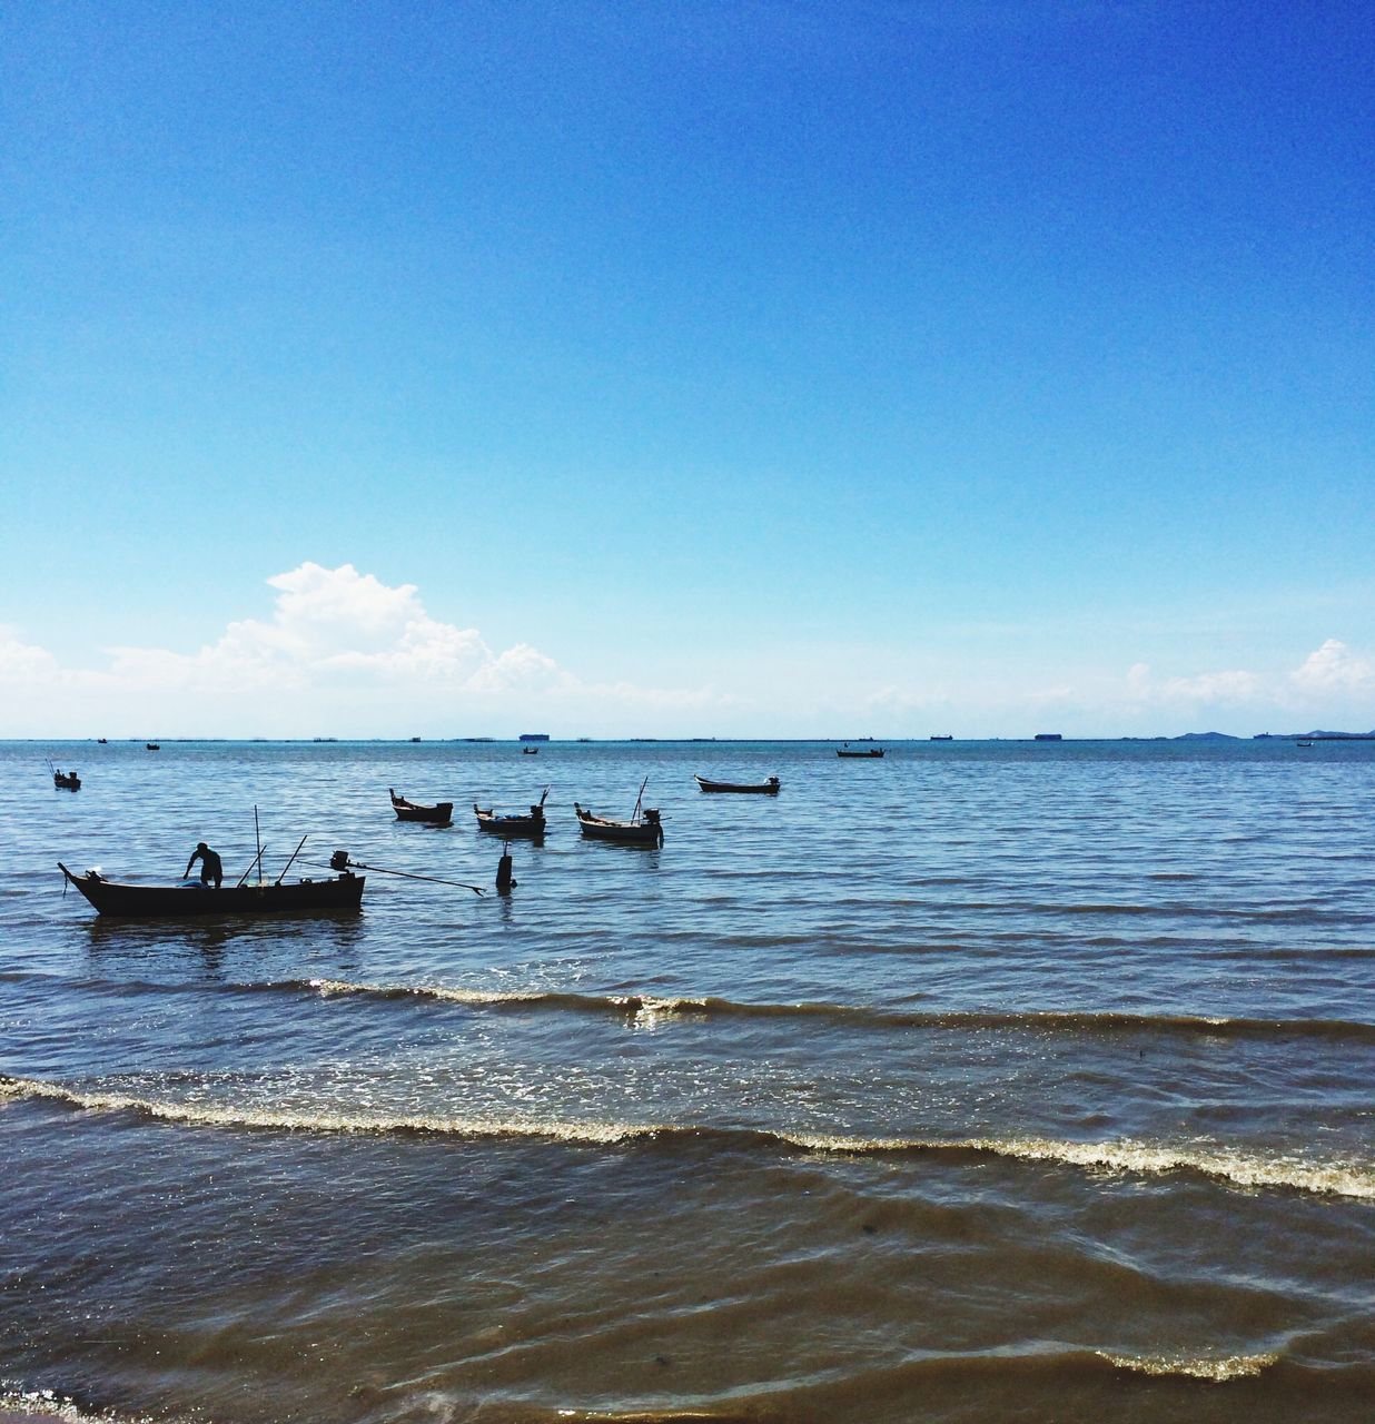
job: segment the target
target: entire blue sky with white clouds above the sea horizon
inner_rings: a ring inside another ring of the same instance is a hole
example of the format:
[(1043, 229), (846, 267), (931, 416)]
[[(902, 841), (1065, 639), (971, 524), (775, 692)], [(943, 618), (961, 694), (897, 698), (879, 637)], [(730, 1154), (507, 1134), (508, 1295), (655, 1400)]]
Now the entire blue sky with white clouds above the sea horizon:
[(0, 735), (1375, 726), (1368, 4), (16, 3), (0, 125)]

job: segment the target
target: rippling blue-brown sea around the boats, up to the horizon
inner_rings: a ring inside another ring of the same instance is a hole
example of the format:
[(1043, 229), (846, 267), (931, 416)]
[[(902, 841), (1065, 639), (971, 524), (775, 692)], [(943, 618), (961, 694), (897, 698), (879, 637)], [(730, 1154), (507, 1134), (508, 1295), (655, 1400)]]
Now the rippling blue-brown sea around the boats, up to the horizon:
[(836, 746), (0, 743), (0, 1415), (1375, 1417), (1375, 742)]

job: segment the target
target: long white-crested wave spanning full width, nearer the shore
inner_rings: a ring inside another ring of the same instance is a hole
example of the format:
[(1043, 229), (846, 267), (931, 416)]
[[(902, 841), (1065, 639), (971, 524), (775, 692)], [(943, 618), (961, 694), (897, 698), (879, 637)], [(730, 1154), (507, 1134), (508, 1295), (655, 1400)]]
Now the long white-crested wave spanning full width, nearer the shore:
[(717, 1126), (668, 1122), (598, 1122), (538, 1116), (448, 1116), (441, 1114), (350, 1114), (290, 1108), (216, 1106), (141, 1098), (128, 1092), (70, 1088), (37, 1078), (0, 1075), (0, 1102), (37, 1098), (85, 1112), (132, 1112), (188, 1126), (359, 1135), (552, 1139), (571, 1145), (636, 1142), (692, 1143), (722, 1151), (750, 1148), (836, 1156), (951, 1155), (1049, 1162), (1089, 1172), (1164, 1176), (1193, 1172), (1228, 1186), (1274, 1188), (1375, 1202), (1375, 1166), (1263, 1156), (1218, 1143), (1150, 1143), (1132, 1139), (1076, 1142), (1060, 1138), (908, 1138), (850, 1136), (790, 1128)]

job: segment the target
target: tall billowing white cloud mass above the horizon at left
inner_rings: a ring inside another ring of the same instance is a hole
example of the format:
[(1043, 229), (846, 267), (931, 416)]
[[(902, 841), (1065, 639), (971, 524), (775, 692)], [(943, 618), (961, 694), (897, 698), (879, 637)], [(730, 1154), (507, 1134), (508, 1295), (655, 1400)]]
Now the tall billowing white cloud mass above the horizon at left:
[(729, 701), (710, 689), (584, 684), (525, 642), (494, 652), (475, 628), (431, 617), (414, 584), (389, 587), (352, 564), (303, 562), (268, 585), (276, 590), (270, 618), (231, 622), (192, 654), (110, 648), (101, 671), (63, 671), (51, 654), (0, 627), (0, 688), (80, 686), (78, 713), (61, 711), (56, 696), (36, 708), (47, 716), (34, 731), (51, 735), (88, 735), (93, 716), (124, 719), (122, 729), (101, 726), (112, 735), (154, 726), (209, 736), (387, 736), (413, 726), (444, 735), (473, 731), (474, 719), (487, 732), (491, 719), (528, 721), (537, 698), (541, 722), (576, 718), (579, 731), (615, 735), (621, 728), (605, 726), (608, 716)]

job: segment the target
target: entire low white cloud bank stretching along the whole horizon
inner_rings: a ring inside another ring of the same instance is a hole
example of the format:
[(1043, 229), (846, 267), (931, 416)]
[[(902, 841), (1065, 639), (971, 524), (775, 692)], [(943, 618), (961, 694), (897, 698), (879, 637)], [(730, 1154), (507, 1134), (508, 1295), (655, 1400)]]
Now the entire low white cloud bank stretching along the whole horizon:
[[(793, 666), (790, 681), (771, 669), (734, 692), (663, 689), (586, 682), (527, 642), (497, 652), (478, 629), (434, 618), (414, 584), (391, 587), (352, 564), (306, 561), (266, 582), (270, 617), (231, 622), (191, 654), (108, 648), (108, 665), (95, 669), (64, 668), (0, 625), (0, 735), (453, 736), (538, 723), (562, 735), (830, 736), (873, 723), (887, 736), (978, 736), (1025, 735), (1028, 719), (1056, 719), (1079, 735), (1305, 731), (1318, 721), (1368, 731), (1375, 722), (1375, 658), (1335, 638), (1268, 676), (1157, 676), (1137, 662), (1124, 674), (1080, 671), (1025, 686), (969, 671), (962, 682), (914, 691), (880, 676), (838, 688), (827, 668)], [(1210, 718), (1223, 725), (1198, 725)], [(1304, 725), (1255, 725), (1285, 718)]]

